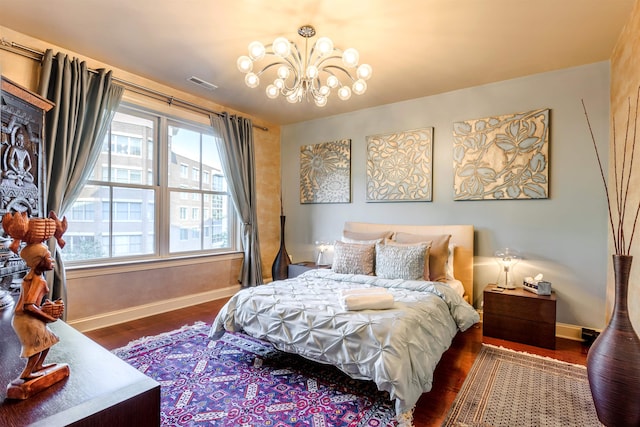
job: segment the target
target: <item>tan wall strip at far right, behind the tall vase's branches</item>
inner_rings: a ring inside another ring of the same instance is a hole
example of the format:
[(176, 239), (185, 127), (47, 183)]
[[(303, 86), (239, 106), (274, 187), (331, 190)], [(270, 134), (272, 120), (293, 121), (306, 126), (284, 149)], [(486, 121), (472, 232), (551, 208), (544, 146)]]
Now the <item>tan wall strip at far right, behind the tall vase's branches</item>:
[[(633, 120), (636, 109), (638, 88), (640, 87), (640, 2), (636, 1), (633, 12), (627, 24), (622, 30), (616, 47), (611, 56), (611, 114), (614, 121), (610, 124), (610, 149), (609, 149), (609, 187), (614, 185), (615, 158), (613, 142), (613, 126), (616, 129), (616, 146), (618, 151), (618, 165), (621, 165), (624, 148), (624, 125), (626, 124), (627, 109), (631, 106), (631, 119)], [(633, 122), (632, 122), (633, 125)], [(633, 126), (631, 126), (633, 127)], [(640, 132), (640, 128), (638, 129)], [(638, 135), (640, 139), (640, 135)], [(631, 141), (631, 139), (630, 139)], [(640, 141), (638, 142), (640, 145)], [(640, 146), (637, 147), (636, 164), (631, 177), (630, 192), (628, 198), (628, 210), (625, 230), (627, 239), (631, 237), (632, 222), (635, 216), (635, 208), (640, 203)], [(614, 211), (614, 220), (616, 218)], [(610, 253), (614, 253), (612, 237), (609, 237)], [(636, 331), (640, 331), (640, 229), (632, 242), (631, 255), (634, 255), (634, 265), (631, 268), (629, 290), (629, 313)], [(607, 313), (609, 317), (614, 303), (613, 268), (609, 265), (609, 280), (607, 284)]]

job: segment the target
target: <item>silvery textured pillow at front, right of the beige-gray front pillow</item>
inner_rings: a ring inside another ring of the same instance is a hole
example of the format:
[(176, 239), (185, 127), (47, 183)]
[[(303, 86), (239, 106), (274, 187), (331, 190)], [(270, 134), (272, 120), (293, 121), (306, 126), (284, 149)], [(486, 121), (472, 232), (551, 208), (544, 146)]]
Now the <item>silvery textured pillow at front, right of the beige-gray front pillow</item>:
[(426, 243), (376, 244), (376, 276), (382, 279), (423, 280)]

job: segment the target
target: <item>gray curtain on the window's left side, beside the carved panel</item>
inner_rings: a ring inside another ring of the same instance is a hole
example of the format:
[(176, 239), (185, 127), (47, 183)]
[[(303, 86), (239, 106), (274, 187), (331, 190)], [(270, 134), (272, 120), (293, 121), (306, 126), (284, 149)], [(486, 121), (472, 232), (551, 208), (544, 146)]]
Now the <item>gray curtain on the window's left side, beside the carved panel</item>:
[[(38, 92), (55, 103), (46, 117), (45, 212), (54, 211), (62, 218), (78, 197), (123, 91), (113, 84), (111, 71), (91, 71), (77, 58), (45, 52)], [(66, 302), (64, 264), (53, 239), (49, 250), (56, 264), (54, 274), (47, 275), (49, 297)]]

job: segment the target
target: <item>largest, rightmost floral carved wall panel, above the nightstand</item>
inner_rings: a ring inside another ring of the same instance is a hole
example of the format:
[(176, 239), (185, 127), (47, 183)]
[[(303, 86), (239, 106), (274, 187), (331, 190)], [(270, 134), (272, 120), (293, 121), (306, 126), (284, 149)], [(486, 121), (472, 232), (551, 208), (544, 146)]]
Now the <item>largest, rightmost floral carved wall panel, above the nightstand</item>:
[(453, 124), (455, 200), (549, 197), (549, 109)]

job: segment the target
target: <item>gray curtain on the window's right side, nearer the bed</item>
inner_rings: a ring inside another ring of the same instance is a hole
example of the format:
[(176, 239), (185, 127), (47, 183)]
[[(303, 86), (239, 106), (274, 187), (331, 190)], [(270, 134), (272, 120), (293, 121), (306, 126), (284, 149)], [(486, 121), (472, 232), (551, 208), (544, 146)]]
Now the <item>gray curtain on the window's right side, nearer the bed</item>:
[(251, 120), (227, 113), (211, 115), (211, 126), (222, 140), (218, 153), (236, 212), (242, 221), (244, 262), (242, 287), (262, 284), (262, 262), (256, 211), (255, 158)]

